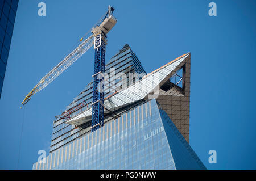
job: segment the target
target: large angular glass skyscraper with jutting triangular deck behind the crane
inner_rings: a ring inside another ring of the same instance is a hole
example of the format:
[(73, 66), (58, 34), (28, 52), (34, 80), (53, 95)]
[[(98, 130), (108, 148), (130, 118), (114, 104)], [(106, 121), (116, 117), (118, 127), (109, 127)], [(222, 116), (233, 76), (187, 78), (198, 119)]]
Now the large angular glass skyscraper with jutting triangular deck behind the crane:
[(188, 143), (190, 53), (146, 74), (125, 45), (105, 70), (104, 126), (91, 132), (91, 82), (56, 116), (33, 169), (205, 169)]

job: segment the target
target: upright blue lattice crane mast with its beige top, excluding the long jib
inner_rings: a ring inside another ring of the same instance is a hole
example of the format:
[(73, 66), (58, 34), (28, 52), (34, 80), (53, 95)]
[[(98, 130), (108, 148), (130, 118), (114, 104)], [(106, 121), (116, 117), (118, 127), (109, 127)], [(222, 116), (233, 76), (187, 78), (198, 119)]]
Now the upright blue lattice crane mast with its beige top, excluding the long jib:
[(96, 131), (104, 125), (104, 72), (105, 52), (107, 44), (106, 34), (115, 26), (117, 19), (113, 17), (114, 8), (109, 6), (105, 18), (99, 26), (93, 28), (94, 36), (94, 74), (93, 74), (93, 103), (92, 129)]

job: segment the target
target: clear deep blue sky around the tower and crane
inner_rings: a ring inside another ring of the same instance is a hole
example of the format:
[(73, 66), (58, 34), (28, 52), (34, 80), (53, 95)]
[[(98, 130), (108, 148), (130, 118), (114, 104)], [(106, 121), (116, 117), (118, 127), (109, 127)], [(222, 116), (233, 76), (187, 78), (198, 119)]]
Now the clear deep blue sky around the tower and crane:
[[(38, 3), (46, 16), (38, 16)], [(0, 169), (31, 169), (49, 151), (54, 116), (92, 79), (93, 49), (34, 95), (24, 96), (115, 7), (106, 61), (126, 43), (151, 72), (191, 52), (190, 144), (208, 169), (256, 169), (255, 1), (20, 1), (0, 99)], [(217, 151), (217, 163), (208, 151)]]

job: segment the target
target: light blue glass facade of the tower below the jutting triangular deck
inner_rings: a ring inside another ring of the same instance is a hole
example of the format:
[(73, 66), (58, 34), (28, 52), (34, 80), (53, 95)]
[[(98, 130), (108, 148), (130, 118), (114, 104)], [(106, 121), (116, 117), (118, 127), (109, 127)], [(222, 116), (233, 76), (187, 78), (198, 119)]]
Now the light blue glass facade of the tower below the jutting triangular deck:
[(205, 169), (155, 99), (52, 151), (45, 161), (33, 169)]

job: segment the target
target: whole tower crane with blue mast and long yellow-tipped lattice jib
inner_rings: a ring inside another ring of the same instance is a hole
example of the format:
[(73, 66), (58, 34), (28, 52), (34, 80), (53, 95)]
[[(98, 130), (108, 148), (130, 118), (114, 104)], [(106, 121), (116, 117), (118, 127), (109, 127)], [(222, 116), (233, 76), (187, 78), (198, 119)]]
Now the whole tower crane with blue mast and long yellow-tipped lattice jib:
[(92, 132), (102, 127), (104, 124), (104, 71), (105, 71), (105, 47), (107, 44), (107, 34), (117, 23), (113, 16), (114, 8), (109, 5), (105, 17), (92, 28), (92, 35), (84, 40), (80, 39), (81, 44), (68, 54), (59, 64), (46, 74), (38, 84), (24, 98), (22, 104), (25, 105), (31, 96), (44, 89), (64, 70), (73, 64), (88, 49), (94, 45), (94, 74), (93, 74), (93, 103), (92, 103)]

